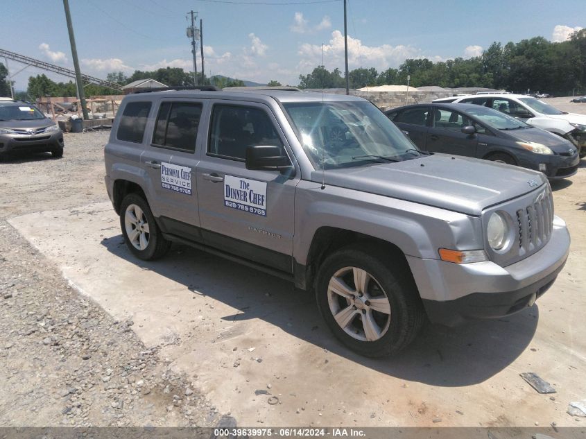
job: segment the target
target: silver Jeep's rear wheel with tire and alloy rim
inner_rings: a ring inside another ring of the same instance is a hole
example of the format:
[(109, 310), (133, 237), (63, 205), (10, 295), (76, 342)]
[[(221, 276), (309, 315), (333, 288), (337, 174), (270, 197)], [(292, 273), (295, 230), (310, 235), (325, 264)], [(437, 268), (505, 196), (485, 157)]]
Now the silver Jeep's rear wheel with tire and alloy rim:
[(146, 200), (129, 193), (120, 205), (120, 227), (132, 255), (144, 261), (164, 256), (171, 242), (164, 239)]

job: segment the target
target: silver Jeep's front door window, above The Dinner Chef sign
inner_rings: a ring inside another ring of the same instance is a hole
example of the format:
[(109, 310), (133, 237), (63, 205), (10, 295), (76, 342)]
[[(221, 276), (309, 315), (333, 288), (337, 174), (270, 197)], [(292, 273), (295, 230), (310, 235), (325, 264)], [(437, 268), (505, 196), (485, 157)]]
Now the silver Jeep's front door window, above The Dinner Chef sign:
[(246, 148), (258, 145), (283, 149), (283, 142), (266, 112), (255, 107), (214, 105), (209, 155), (243, 161)]

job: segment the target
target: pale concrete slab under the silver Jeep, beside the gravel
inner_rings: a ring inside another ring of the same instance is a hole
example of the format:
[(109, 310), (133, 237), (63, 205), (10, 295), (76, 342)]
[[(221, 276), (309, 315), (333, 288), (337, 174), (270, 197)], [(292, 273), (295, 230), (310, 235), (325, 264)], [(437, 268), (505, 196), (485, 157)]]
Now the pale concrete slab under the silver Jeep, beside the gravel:
[[(313, 297), (280, 279), (182, 246), (135, 259), (110, 203), (10, 223), (241, 426), (579, 425), (565, 412), (586, 397), (583, 244), (531, 309), (429, 326), (399, 358), (371, 360), (339, 345)], [(558, 393), (538, 394), (520, 372)]]

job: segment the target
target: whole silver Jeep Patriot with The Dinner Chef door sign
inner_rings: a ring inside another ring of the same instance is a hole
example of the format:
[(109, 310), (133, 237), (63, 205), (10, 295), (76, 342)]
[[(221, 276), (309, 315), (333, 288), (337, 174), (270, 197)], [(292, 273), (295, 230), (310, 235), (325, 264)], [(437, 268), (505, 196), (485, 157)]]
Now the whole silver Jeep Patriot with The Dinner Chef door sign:
[(422, 153), (352, 96), (129, 95), (105, 168), (133, 255), (175, 241), (290, 279), (366, 356), (399, 352), (426, 316), (531, 306), (569, 252), (542, 173)]

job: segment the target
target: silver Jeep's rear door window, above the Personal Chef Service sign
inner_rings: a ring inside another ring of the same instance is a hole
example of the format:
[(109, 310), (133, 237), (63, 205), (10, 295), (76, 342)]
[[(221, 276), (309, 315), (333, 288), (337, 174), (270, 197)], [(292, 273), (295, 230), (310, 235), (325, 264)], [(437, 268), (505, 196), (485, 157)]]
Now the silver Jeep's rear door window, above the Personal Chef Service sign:
[(201, 112), (202, 105), (199, 103), (162, 103), (153, 144), (193, 153), (196, 150)]

